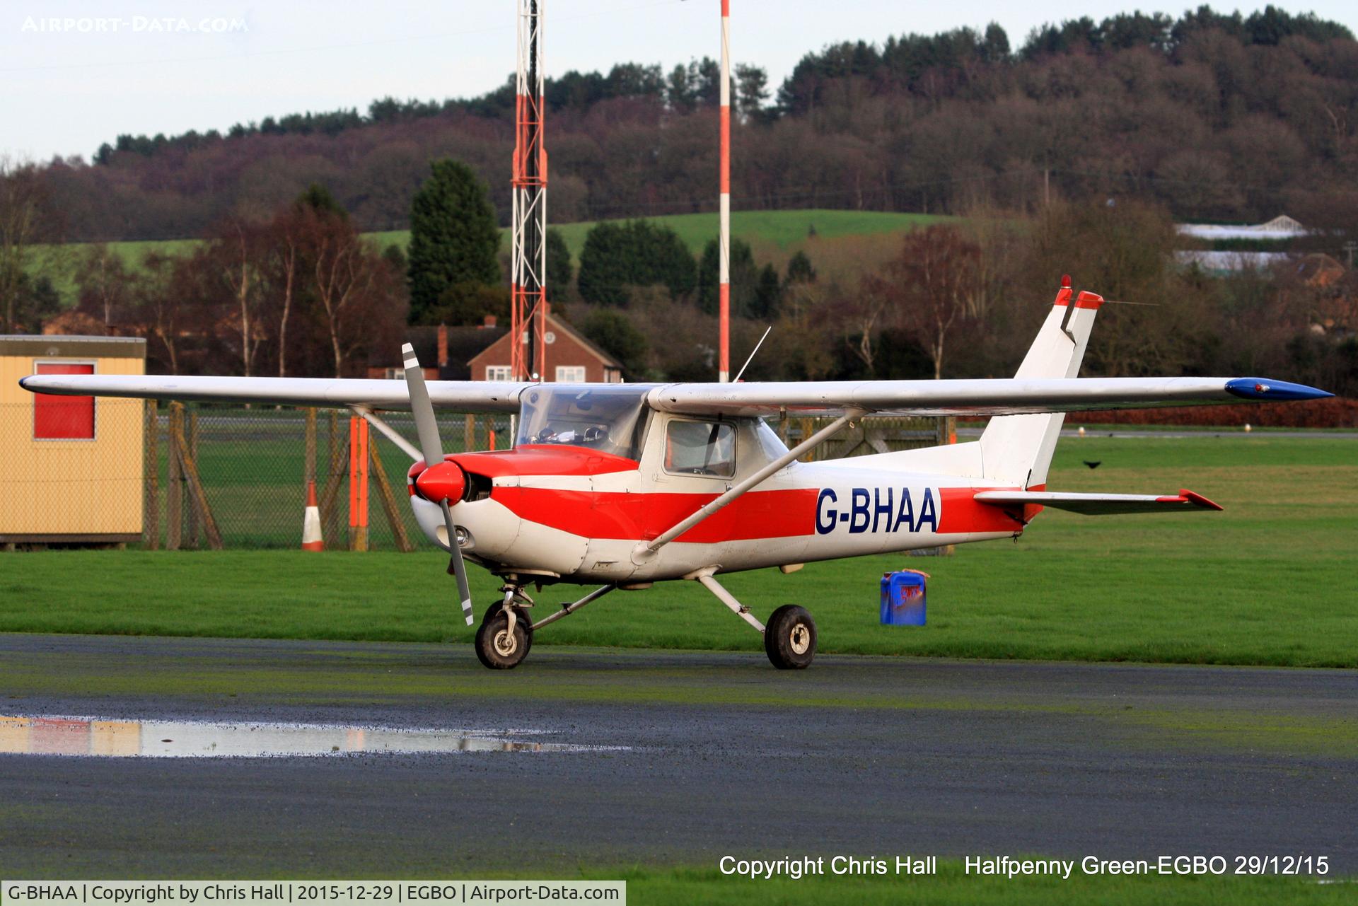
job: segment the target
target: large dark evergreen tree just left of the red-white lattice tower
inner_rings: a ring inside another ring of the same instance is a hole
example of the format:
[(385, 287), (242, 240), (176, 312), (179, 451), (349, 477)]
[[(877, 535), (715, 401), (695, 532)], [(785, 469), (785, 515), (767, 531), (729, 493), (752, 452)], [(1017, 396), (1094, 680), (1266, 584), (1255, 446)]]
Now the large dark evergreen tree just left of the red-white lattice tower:
[(501, 281), (500, 230), (485, 183), (464, 163), (430, 166), (410, 202), (410, 321), (418, 322), (451, 287)]

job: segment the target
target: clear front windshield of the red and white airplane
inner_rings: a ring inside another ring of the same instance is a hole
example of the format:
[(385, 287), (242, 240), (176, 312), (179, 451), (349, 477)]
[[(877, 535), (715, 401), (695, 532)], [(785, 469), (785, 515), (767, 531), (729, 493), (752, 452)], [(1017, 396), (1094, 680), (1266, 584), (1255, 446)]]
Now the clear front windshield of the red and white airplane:
[(650, 387), (543, 384), (520, 397), (520, 444), (570, 444), (641, 458), (642, 399)]

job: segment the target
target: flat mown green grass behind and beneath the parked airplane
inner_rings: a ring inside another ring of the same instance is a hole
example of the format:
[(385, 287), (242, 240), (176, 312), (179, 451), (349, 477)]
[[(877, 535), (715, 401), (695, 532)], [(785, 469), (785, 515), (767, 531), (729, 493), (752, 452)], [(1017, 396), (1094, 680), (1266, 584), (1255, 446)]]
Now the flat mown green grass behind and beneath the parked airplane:
[[(1017, 543), (740, 573), (727, 584), (760, 614), (809, 607), (823, 652), (1358, 667), (1355, 451), (1353, 440), (1323, 436), (1066, 439), (1055, 490), (1183, 486), (1226, 512), (1047, 512)], [(1103, 465), (1089, 470), (1084, 459)], [(41, 551), (3, 562), (0, 630), (470, 638), (437, 553)], [(932, 575), (926, 628), (877, 623), (877, 579), (900, 566)], [(473, 577), (488, 603), (496, 581)], [(547, 588), (539, 600), (572, 591)], [(536, 644), (760, 648), (691, 583), (615, 592)]]

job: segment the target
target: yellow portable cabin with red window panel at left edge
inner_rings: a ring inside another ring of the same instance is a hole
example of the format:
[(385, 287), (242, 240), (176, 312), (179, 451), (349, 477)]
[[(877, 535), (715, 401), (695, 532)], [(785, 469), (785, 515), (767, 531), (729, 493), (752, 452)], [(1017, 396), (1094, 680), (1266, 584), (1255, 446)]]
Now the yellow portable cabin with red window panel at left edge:
[(0, 545), (141, 539), (145, 403), (31, 394), (19, 379), (145, 371), (140, 337), (0, 336)]

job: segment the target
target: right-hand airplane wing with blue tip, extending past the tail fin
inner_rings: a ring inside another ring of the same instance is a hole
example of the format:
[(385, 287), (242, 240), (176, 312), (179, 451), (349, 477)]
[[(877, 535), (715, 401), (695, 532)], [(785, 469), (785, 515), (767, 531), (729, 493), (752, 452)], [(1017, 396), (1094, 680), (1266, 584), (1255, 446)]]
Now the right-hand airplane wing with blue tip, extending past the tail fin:
[(1334, 394), (1263, 378), (1004, 378), (985, 380), (822, 380), (667, 384), (648, 401), (690, 416), (1014, 416), (1200, 403), (1283, 402)]

